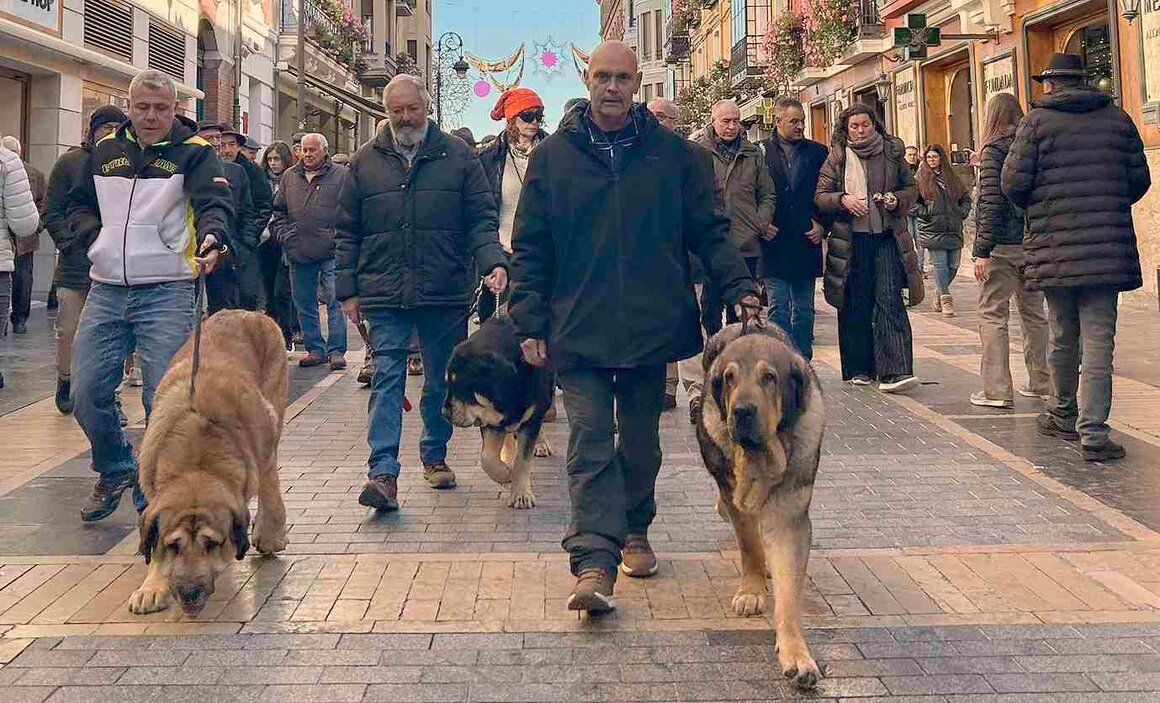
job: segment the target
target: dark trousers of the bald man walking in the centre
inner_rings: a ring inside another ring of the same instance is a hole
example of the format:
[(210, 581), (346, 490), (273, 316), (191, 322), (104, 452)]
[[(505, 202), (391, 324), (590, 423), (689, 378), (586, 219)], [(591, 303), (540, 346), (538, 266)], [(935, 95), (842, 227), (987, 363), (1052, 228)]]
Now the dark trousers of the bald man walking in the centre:
[(572, 430), (564, 549), (575, 575), (586, 566), (616, 568), (625, 536), (646, 532), (657, 516), (665, 364), (567, 369), (559, 383)]

